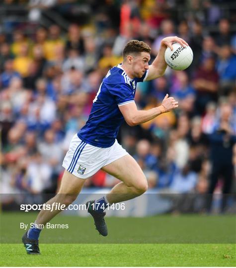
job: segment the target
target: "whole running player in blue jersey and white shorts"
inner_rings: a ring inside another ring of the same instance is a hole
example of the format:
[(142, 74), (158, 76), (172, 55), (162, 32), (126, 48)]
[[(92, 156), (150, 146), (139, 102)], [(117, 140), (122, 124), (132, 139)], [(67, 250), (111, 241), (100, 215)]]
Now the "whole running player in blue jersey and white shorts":
[[(167, 67), (165, 49), (170, 47), (172, 50), (174, 42), (188, 46), (176, 36), (162, 39), (158, 55), (150, 66), (151, 48), (146, 43), (131, 40), (126, 44), (122, 64), (111, 68), (103, 78), (85, 126), (72, 138), (63, 161), (65, 172), (59, 193), (46, 203), (60, 202), (68, 206), (76, 200), (85, 179), (99, 169), (113, 175), (121, 182), (106, 196), (86, 203), (96, 229), (103, 236), (107, 235), (104, 209), (113, 203), (138, 197), (148, 189), (142, 169), (117, 142), (116, 136), (124, 120), (129, 126), (136, 126), (178, 107), (174, 98), (167, 94), (160, 106), (147, 111), (138, 110), (134, 101), (138, 82), (156, 79), (164, 74)], [(41, 229), (37, 228), (38, 225), (45, 225), (60, 211), (42, 209), (39, 212), (34, 227), (22, 237), (28, 254), (40, 253), (38, 238)]]

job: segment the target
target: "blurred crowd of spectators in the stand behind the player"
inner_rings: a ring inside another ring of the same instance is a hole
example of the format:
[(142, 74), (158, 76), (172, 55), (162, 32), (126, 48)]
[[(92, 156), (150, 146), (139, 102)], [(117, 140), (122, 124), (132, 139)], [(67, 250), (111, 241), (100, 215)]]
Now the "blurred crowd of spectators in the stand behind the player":
[[(42, 27), (35, 10), (60, 12), (63, 2), (48, 1), (45, 7), (29, 1), (33, 34), (20, 23), (11, 33), (1, 28), (1, 193), (55, 193), (70, 140), (86, 122), (102, 78), (122, 62), (126, 42), (148, 43), (152, 62), (161, 39), (173, 35), (192, 48), (192, 65), (184, 71), (168, 67), (163, 77), (139, 83), (136, 104), (156, 107), (168, 93), (179, 108), (141, 126), (124, 123), (118, 141), (142, 167), (149, 188), (235, 192), (236, 20), (230, 6), (221, 8), (227, 1), (72, 0), (67, 14), (80, 4), (92, 10), (85, 24), (76, 23), (74, 14), (71, 20), (66, 16), (67, 31), (58, 24)], [(85, 187), (117, 182), (99, 171)]]

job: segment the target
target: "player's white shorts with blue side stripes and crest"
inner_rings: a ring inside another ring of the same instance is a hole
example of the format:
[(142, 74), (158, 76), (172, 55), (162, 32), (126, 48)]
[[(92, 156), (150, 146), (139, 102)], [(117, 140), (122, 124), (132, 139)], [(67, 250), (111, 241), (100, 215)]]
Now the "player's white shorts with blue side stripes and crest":
[(76, 177), (86, 179), (127, 154), (117, 140), (111, 147), (100, 148), (82, 141), (76, 134), (71, 140), (62, 166)]

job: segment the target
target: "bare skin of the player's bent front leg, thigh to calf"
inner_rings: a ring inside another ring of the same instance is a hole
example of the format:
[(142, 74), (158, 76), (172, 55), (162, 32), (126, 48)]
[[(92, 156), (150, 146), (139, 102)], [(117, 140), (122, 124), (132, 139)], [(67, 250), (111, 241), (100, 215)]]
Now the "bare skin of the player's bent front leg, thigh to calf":
[(117, 203), (138, 197), (148, 189), (147, 179), (136, 160), (129, 154), (102, 168), (108, 174), (121, 180), (106, 195), (109, 203)]

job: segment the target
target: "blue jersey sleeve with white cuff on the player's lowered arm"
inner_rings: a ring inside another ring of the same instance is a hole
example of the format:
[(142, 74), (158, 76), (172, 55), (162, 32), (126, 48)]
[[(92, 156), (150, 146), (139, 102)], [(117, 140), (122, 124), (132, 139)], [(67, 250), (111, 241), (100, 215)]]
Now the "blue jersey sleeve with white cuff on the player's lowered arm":
[(134, 102), (134, 91), (126, 83), (109, 85), (108, 91), (115, 97), (118, 106)]

